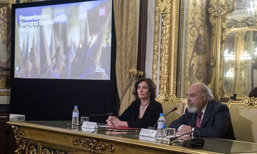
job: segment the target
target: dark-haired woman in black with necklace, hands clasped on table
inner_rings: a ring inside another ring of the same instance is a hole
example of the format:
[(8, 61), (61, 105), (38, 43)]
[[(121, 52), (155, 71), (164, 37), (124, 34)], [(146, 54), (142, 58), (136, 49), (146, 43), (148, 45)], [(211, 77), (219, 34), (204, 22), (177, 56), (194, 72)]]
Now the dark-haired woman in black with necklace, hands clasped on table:
[(160, 113), (163, 113), (161, 103), (155, 100), (156, 86), (150, 78), (140, 78), (136, 81), (133, 101), (121, 116), (109, 116), (106, 120), (110, 127), (147, 128), (154, 126)]

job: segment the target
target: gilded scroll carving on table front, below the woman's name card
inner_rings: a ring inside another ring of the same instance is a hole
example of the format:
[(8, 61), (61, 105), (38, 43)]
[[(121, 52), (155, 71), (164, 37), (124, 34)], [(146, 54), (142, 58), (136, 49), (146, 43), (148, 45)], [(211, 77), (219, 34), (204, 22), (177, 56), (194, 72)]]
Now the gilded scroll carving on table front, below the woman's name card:
[(72, 141), (74, 146), (86, 147), (89, 149), (90, 153), (95, 153), (96, 151), (108, 151), (110, 153), (114, 153), (114, 146), (112, 144), (99, 143), (96, 139), (86, 138), (86, 139), (78, 139), (74, 138)]

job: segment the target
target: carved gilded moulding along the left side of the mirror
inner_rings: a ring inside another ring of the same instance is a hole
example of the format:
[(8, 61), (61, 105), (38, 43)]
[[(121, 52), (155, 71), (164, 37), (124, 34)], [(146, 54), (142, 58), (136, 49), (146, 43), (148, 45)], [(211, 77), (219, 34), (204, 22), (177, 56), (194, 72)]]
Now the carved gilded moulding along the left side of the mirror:
[(210, 78), (208, 86), (213, 89), (215, 99), (224, 96), (223, 66), (226, 17), (235, 10), (235, 3), (240, 0), (210, 0), (209, 22), (211, 25)]

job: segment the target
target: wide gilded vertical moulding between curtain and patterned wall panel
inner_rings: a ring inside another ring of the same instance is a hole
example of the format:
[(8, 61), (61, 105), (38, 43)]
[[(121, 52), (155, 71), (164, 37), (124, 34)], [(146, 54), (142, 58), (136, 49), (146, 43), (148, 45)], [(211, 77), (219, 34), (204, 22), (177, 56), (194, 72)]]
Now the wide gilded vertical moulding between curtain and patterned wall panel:
[(160, 10), (164, 2), (160, 1), (156, 0), (155, 7), (152, 78), (159, 82), (160, 94), (180, 97), (184, 0), (166, 0), (165, 12)]

